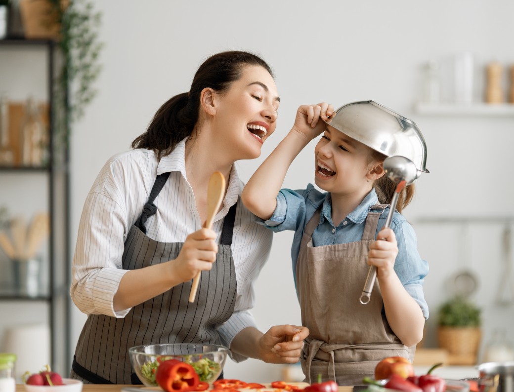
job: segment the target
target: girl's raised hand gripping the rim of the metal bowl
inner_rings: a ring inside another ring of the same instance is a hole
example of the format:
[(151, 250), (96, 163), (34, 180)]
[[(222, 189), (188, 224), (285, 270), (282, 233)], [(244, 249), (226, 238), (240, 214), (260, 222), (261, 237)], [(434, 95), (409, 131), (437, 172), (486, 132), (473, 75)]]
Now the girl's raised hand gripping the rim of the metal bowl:
[(311, 141), (326, 129), (325, 121), (329, 120), (333, 114), (334, 106), (326, 102), (317, 105), (302, 105), (296, 112), (295, 124), (292, 129)]

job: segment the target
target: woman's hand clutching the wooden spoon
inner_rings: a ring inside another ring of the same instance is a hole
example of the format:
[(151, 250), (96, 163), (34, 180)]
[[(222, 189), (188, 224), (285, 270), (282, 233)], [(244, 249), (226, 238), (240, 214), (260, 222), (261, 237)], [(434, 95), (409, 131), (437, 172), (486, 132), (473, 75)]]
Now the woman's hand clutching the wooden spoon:
[(171, 260), (171, 274), (180, 282), (188, 282), (198, 271), (208, 271), (216, 261), (216, 232), (202, 228), (187, 236), (178, 257)]

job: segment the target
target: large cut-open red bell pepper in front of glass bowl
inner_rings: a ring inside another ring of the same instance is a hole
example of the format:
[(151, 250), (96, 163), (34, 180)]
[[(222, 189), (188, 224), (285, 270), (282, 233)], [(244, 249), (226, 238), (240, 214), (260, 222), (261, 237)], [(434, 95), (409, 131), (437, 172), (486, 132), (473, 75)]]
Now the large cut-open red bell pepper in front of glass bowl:
[(169, 359), (162, 361), (157, 367), (155, 381), (167, 392), (186, 392), (196, 390), (200, 380), (193, 366)]

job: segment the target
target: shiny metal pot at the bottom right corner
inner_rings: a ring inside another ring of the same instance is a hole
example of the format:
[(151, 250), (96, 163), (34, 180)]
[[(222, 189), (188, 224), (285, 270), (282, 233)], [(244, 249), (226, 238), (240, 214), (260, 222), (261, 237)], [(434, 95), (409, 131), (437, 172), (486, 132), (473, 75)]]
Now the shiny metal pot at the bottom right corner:
[(514, 361), (479, 365), (479, 389), (483, 392), (514, 391)]

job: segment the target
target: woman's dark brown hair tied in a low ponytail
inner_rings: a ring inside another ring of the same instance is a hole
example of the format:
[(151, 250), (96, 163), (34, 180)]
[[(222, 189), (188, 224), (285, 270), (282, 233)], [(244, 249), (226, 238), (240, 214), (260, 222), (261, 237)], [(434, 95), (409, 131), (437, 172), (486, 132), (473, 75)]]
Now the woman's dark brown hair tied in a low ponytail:
[(241, 78), (246, 65), (259, 65), (273, 77), (269, 65), (253, 53), (226, 51), (212, 55), (196, 71), (189, 92), (178, 94), (164, 103), (146, 132), (132, 142), (132, 148), (154, 150), (158, 160), (170, 154), (180, 140), (193, 132), (198, 121), (201, 91), (206, 87), (220, 93), (228, 90)]

